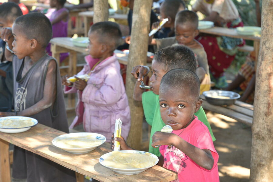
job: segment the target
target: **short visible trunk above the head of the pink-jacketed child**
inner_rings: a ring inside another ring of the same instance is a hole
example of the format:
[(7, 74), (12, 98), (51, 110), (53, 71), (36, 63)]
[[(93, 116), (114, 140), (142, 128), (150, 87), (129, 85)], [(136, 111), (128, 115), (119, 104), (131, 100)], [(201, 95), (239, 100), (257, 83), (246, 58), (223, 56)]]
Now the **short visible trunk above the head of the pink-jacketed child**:
[(94, 0), (94, 16), (93, 22), (108, 21), (108, 1), (107, 0)]

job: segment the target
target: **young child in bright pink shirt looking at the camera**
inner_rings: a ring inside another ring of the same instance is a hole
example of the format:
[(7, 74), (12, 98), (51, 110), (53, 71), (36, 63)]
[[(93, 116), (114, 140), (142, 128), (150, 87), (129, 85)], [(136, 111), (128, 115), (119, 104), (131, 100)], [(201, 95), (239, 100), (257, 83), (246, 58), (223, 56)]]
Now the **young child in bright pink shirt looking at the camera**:
[[(173, 131), (155, 132), (152, 146), (161, 145), (158, 165), (177, 172), (176, 182), (219, 182), (219, 155), (207, 127), (194, 116), (203, 102), (199, 95), (200, 81), (193, 71), (173, 69), (161, 79), (160, 114)], [(120, 142), (121, 150), (133, 150), (123, 137), (112, 138), (112, 147), (113, 140)]]

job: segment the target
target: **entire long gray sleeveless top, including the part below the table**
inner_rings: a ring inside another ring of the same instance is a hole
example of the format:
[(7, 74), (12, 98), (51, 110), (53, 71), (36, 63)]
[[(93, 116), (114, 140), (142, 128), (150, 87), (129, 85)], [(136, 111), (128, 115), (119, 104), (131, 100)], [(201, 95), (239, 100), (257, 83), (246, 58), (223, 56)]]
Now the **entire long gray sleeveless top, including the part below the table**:
[[(15, 111), (27, 109), (43, 98), (44, 87), (46, 87), (45, 77), (49, 62), (52, 59), (55, 60), (49, 55), (44, 55), (22, 77), (24, 59), (18, 59), (16, 55), (13, 56)], [(40, 124), (68, 133), (58, 66), (56, 73), (57, 94), (53, 109), (46, 108), (30, 117), (37, 119)], [(14, 146), (13, 152), (12, 177), (17, 179), (27, 178), (27, 182), (76, 182), (75, 171), (17, 146)]]

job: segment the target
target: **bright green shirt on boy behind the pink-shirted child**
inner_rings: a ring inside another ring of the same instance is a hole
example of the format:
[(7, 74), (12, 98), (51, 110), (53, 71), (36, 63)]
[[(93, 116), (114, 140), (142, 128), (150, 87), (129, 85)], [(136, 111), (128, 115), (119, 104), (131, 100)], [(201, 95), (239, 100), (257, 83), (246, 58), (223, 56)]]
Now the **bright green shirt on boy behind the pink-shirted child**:
[[(154, 94), (153, 91), (144, 92), (142, 94), (142, 105), (144, 110), (144, 115), (148, 124), (152, 126), (151, 135), (150, 135), (150, 144), (149, 144), (149, 152), (160, 156), (159, 147), (152, 147), (152, 136), (156, 131), (160, 131), (165, 123), (162, 121), (160, 115), (160, 105), (159, 105), (159, 95)], [(212, 133), (211, 126), (207, 121), (206, 113), (204, 109), (200, 107), (199, 111), (197, 111), (195, 116), (198, 117), (198, 120), (202, 121), (209, 129), (212, 137), (212, 141), (215, 141), (215, 137)]]

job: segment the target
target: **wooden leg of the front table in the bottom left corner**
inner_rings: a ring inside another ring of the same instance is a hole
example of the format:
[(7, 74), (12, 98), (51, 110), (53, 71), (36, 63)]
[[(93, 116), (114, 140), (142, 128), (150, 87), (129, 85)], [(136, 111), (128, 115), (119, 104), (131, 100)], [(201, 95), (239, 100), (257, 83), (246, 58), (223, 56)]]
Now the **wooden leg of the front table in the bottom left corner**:
[(0, 139), (0, 182), (11, 182), (8, 144)]

